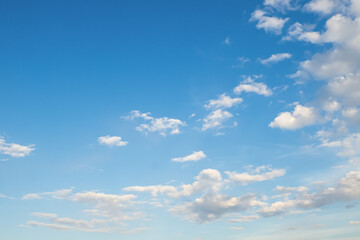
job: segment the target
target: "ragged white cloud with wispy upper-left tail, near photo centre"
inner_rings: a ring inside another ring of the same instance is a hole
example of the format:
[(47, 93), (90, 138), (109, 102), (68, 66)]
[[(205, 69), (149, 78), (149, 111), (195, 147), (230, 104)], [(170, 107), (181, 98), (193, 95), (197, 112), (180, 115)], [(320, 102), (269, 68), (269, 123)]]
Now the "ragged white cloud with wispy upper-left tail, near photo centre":
[(138, 110), (131, 111), (130, 115), (125, 117), (126, 119), (142, 118), (143, 120), (149, 121), (150, 123), (143, 123), (136, 127), (139, 132), (158, 132), (162, 136), (167, 134), (179, 134), (180, 127), (185, 126), (185, 122), (168, 117), (153, 118), (150, 113), (141, 113)]

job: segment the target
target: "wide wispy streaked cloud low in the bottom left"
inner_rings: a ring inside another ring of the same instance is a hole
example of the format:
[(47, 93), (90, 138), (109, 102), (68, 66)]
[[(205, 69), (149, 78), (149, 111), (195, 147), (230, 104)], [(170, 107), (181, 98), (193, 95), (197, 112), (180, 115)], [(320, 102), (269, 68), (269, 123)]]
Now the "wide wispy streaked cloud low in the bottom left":
[[(134, 211), (134, 205), (139, 203), (134, 201), (136, 196), (133, 194), (117, 195), (95, 191), (74, 193), (72, 189), (61, 189), (53, 192), (26, 194), (23, 197), (24, 200), (43, 198), (62, 199), (92, 205), (94, 208), (86, 209), (84, 213), (97, 218), (93, 218), (91, 221), (74, 220), (71, 218), (58, 218), (53, 213), (33, 213), (34, 217), (44, 218), (47, 222), (29, 221), (26, 226), (44, 226), (63, 231), (120, 231), (122, 233), (131, 233), (137, 230), (124, 229), (122, 227), (124, 223), (144, 218), (143, 213)], [(101, 225), (101, 227), (98, 225)]]

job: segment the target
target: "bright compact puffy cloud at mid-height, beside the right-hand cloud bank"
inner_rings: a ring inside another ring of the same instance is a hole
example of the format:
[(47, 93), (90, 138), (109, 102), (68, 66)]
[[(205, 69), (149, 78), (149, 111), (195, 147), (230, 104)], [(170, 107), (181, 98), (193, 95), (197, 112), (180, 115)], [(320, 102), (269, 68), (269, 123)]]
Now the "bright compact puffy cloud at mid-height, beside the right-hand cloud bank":
[(293, 112), (282, 112), (269, 126), (286, 130), (296, 130), (302, 127), (313, 125), (320, 121), (320, 116), (313, 107), (296, 105)]

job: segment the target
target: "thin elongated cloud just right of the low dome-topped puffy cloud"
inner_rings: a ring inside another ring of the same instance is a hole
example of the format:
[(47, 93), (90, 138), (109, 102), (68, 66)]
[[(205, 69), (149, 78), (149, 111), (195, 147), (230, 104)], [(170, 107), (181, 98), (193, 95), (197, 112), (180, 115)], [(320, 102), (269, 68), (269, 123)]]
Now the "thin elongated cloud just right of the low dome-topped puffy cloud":
[(260, 166), (253, 172), (248, 173), (236, 173), (236, 172), (225, 172), (229, 176), (229, 180), (237, 184), (247, 185), (254, 182), (263, 182), (276, 177), (285, 175), (284, 169), (271, 169), (269, 166)]

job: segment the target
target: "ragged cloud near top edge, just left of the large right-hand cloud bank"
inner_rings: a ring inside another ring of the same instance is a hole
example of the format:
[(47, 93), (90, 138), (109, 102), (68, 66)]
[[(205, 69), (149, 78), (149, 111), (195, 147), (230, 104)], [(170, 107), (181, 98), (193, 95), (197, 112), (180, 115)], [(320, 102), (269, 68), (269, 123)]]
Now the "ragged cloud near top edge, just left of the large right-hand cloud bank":
[(252, 13), (250, 21), (257, 21), (256, 28), (264, 29), (266, 32), (281, 34), (281, 30), (289, 18), (278, 18), (266, 16), (262, 10), (256, 10)]

